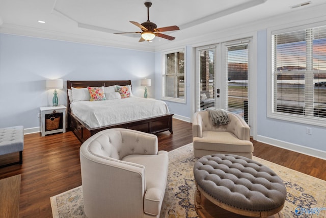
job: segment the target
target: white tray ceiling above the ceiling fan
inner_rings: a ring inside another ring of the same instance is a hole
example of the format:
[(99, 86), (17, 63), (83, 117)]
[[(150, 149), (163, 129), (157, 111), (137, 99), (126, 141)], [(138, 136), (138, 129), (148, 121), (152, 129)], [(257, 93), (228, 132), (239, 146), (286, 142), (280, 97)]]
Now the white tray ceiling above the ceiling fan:
[[(144, 0), (0, 0), (0, 32), (69, 41), (89, 41), (117, 45), (149, 46), (139, 43), (140, 34), (114, 35), (139, 31), (129, 20), (147, 20)], [(222, 28), (239, 26), (269, 17), (324, 4), (312, 0), (310, 5), (292, 8), (303, 0), (151, 0), (150, 21), (157, 27), (177, 25), (179, 31), (166, 32), (185, 40)], [(45, 23), (40, 23), (43, 20)], [(169, 43), (156, 37), (150, 46)], [(141, 44), (141, 45), (138, 45)]]

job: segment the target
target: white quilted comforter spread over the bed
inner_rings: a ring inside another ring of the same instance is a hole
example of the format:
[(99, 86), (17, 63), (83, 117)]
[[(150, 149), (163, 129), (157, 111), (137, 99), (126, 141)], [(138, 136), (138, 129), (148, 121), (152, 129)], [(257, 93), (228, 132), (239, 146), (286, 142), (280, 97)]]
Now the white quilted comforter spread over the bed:
[(129, 122), (169, 113), (167, 104), (155, 99), (132, 96), (106, 101), (78, 101), (70, 104), (71, 111), (90, 128)]

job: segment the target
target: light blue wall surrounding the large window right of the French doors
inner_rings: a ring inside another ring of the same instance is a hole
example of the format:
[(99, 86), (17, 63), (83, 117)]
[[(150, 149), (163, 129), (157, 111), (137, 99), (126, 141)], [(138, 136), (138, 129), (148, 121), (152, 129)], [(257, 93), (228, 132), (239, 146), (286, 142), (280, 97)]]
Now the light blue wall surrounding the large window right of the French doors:
[[(300, 146), (326, 151), (326, 128), (267, 118), (267, 31), (258, 31), (257, 40), (257, 134)], [(312, 134), (306, 134), (311, 127)]]

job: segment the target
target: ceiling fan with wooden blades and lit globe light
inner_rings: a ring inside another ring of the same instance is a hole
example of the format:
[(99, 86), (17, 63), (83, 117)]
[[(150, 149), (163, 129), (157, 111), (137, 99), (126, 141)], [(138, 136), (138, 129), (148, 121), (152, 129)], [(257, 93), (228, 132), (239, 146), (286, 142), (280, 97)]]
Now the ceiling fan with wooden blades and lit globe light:
[[(149, 8), (151, 7), (151, 5), (152, 5), (151, 2), (145, 2), (145, 6), (147, 7), (147, 21), (146, 22), (143, 22), (142, 24), (140, 24), (139, 22), (130, 21), (133, 25), (139, 27), (142, 30), (142, 32), (125, 32), (125, 33), (140, 33), (142, 37), (140, 38), (139, 42), (143, 42), (145, 40), (150, 41), (153, 38), (155, 38), (155, 36), (165, 38), (168, 40), (175, 39), (175, 37), (173, 37), (173, 36), (162, 34), (160, 32), (180, 30), (179, 27), (170, 26), (170, 27), (157, 28), (156, 24), (149, 20)], [(125, 34), (125, 33), (115, 33), (115, 34)]]

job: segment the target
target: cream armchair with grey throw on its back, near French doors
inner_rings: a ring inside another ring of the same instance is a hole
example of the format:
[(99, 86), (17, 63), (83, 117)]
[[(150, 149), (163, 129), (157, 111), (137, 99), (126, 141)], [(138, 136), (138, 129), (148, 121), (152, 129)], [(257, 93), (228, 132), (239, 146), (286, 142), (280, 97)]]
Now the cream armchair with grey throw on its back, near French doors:
[(213, 126), (207, 111), (196, 112), (193, 117), (193, 146), (195, 157), (221, 153), (235, 154), (252, 159), (253, 143), (250, 128), (237, 114), (229, 113), (229, 124)]

